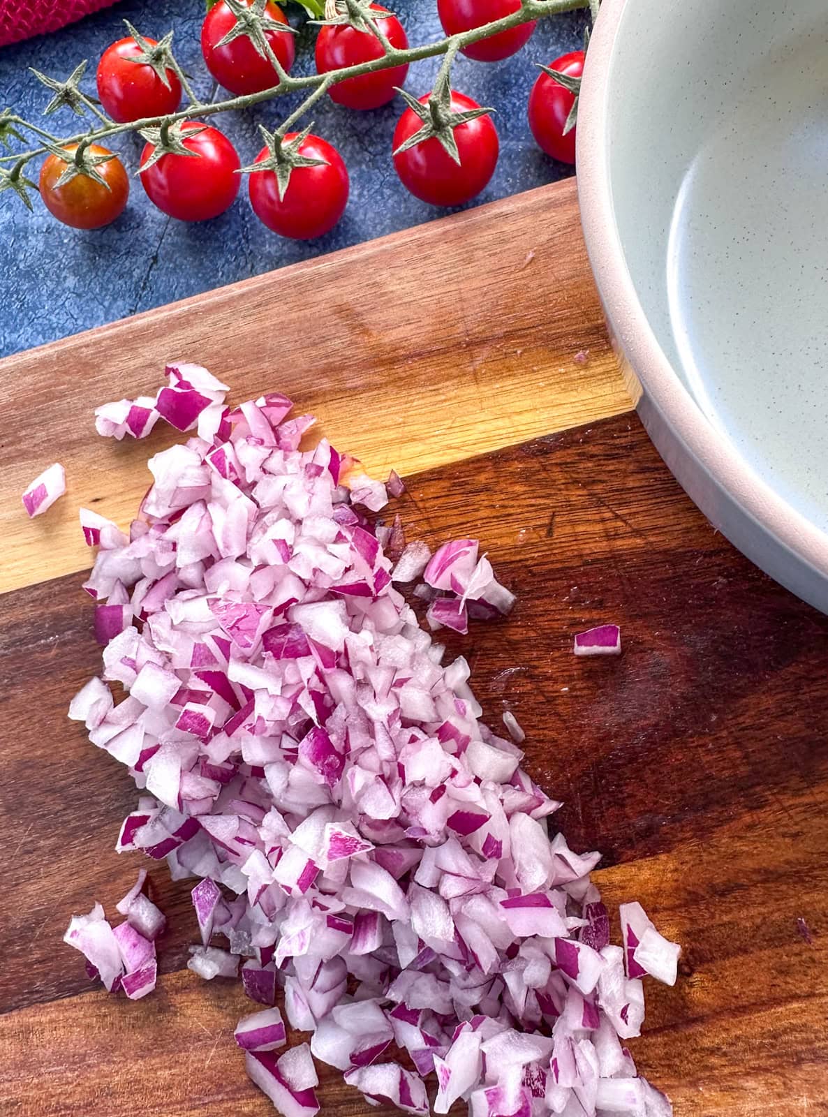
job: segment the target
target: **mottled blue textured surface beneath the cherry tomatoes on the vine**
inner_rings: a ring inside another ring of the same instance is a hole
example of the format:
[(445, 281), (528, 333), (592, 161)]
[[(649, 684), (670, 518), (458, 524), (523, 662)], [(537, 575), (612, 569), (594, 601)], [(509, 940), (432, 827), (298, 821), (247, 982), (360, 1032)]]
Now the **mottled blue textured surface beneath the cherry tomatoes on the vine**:
[[(397, 0), (387, 7), (400, 17), (411, 42), (441, 37), (436, 0)], [(193, 75), (197, 90), (207, 96), (211, 79), (199, 48), (202, 11), (202, 0), (124, 0), (57, 35), (6, 47), (0, 51), (0, 106), (9, 105), (31, 121), (38, 118), (48, 94), (28, 73), (28, 66), (64, 78), (82, 58), (88, 58), (92, 76), (86, 88), (94, 92), (97, 59), (124, 34), (124, 18), (155, 38), (173, 28), (177, 57)], [(288, 15), (294, 23), (302, 20), (301, 9), (294, 4)], [(526, 98), (537, 73), (533, 63), (550, 63), (564, 50), (575, 49), (584, 19), (578, 12), (542, 20), (529, 45), (503, 63), (485, 65), (458, 58), (455, 88), (497, 109), (501, 136), (495, 175), (473, 204), (571, 173), (571, 168), (549, 159), (534, 145), (526, 123)], [(306, 28), (298, 37), (294, 73), (313, 68), (314, 35), (314, 29)], [(427, 92), (438, 65), (439, 59), (427, 59), (412, 66), (407, 87), (418, 95)], [(251, 162), (260, 147), (257, 122), (275, 126), (286, 105), (294, 106), (299, 97), (294, 94), (245, 114), (218, 118), (236, 143), (242, 164)], [(329, 101), (314, 107), (314, 131), (331, 140), (348, 163), (351, 198), (340, 225), (310, 242), (270, 233), (254, 217), (244, 190), (220, 218), (187, 225), (155, 210), (133, 179), (124, 214), (108, 228), (86, 233), (58, 225), (37, 198), (31, 217), (7, 192), (0, 198), (0, 354), (439, 217), (444, 210), (412, 198), (394, 174), (391, 136), (400, 112), (399, 98), (372, 113), (353, 113)], [(58, 124), (66, 134), (76, 131), (68, 109), (51, 122), (56, 125), (53, 131)], [(118, 141), (131, 173), (139, 143), (132, 136)]]

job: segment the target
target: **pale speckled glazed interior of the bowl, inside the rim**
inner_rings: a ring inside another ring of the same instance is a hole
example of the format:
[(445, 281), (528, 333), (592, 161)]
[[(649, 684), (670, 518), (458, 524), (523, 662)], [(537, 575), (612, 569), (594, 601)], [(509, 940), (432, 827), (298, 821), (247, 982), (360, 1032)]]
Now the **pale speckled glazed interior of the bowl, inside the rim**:
[(828, 3), (627, 0), (606, 83), (615, 219), (658, 344), (826, 531)]

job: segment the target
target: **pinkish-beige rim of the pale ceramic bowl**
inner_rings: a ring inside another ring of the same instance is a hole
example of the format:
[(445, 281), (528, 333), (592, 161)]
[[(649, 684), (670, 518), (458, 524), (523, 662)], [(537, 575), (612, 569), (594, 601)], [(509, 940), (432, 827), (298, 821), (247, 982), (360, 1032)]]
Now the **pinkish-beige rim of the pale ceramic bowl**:
[[(613, 341), (621, 347), (644, 395), (685, 454), (779, 544), (828, 579), (828, 534), (797, 512), (763, 480), (724, 435), (716, 431), (674, 371), (636, 294), (615, 218), (609, 179), (609, 74), (625, 8), (603, 0), (583, 70), (578, 103), (578, 198), (587, 251)], [(632, 0), (634, 2), (634, 0)], [(638, 401), (636, 401), (638, 402)], [(726, 525), (716, 524), (725, 531)]]

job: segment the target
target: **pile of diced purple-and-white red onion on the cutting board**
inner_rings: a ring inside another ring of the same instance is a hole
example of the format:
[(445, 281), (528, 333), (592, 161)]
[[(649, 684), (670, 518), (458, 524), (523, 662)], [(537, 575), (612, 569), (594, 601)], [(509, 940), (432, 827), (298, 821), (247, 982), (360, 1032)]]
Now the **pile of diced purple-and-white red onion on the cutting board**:
[[(479, 720), (468, 665), (444, 666), (396, 585), (422, 576), (432, 629), (512, 595), (474, 541), (430, 555), (375, 526), (386, 486), (325, 439), (299, 450), (313, 420), (287, 399), (230, 409), (226, 391), (181, 364), (155, 399), (97, 412), (116, 438), (159, 417), (197, 433), (150, 459), (129, 537), (82, 509), (103, 672), (69, 713), (140, 789), (117, 849), (197, 880), (189, 967), (263, 1006), (236, 1030), (250, 1077), (284, 1117), (320, 1110), (314, 1060), (413, 1114), (429, 1086), (436, 1114), (672, 1113), (624, 1041), (640, 978), (674, 983), (678, 947), (638, 904), (610, 945), (599, 855), (550, 828), (514, 717), (510, 738)], [(164, 923), (142, 886), (120, 926), (96, 905), (66, 936), (131, 997)], [(277, 999), (310, 1047), (286, 1048)]]

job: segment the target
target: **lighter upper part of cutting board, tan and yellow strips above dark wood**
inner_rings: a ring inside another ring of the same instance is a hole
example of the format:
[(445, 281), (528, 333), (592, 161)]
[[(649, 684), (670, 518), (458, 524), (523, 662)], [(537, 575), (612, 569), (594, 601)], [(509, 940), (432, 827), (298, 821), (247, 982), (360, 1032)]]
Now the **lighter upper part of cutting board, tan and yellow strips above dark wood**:
[[(78, 506), (131, 518), (174, 432), (115, 445), (92, 412), (154, 393), (171, 360), (237, 400), (286, 392), (377, 476), (629, 408), (574, 184), (554, 183), (0, 361), (0, 592), (84, 569)], [(20, 494), (56, 459), (68, 496), (29, 521)]]

